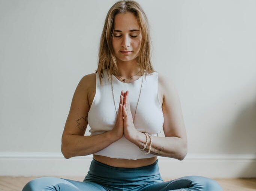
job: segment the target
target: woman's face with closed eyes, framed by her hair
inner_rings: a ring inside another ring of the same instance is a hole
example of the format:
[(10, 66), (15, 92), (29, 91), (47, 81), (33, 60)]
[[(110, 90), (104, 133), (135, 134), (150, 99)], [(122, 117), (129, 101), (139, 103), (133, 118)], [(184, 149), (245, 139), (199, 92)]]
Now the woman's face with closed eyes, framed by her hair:
[[(114, 18), (112, 46), (117, 60), (130, 61), (138, 57), (141, 48), (141, 29), (133, 13), (119, 13)], [(130, 51), (122, 53), (121, 51)]]

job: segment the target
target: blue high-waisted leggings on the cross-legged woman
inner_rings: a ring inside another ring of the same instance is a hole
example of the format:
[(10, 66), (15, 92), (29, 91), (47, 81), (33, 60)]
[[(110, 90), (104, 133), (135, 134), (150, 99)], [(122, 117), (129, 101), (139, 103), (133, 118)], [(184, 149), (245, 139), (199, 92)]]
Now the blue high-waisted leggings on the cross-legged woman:
[(92, 160), (84, 181), (41, 177), (29, 181), (22, 191), (223, 191), (213, 179), (184, 176), (164, 182), (158, 159), (152, 165), (137, 168), (113, 167)]

